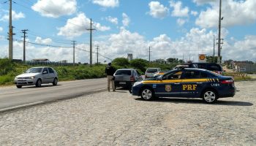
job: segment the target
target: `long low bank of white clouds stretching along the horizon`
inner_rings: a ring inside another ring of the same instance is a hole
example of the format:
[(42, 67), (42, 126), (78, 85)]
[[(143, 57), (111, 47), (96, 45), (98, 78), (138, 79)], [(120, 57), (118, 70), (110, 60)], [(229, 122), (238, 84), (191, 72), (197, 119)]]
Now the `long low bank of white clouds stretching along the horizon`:
[[(227, 36), (227, 31), (223, 34)], [(151, 60), (158, 58), (179, 58), (184, 60), (190, 59), (197, 61), (199, 53), (206, 53), (213, 55), (213, 39), (217, 32), (207, 31), (206, 28), (192, 28), (184, 37), (172, 40), (167, 34), (160, 34), (154, 37), (151, 41), (137, 32), (128, 31), (125, 28), (117, 34), (111, 34), (107, 41), (94, 42), (100, 46), (99, 53), (108, 58), (127, 57), (127, 53), (132, 53), (134, 58), (144, 58), (148, 60), (148, 46), (151, 46)], [(41, 39), (42, 40), (42, 39)], [(198, 41), (200, 40), (200, 41)], [(256, 36), (246, 36), (243, 40), (234, 40), (232, 42), (224, 42), (222, 46), (221, 55), (223, 60), (233, 59), (238, 61), (250, 60), (254, 61), (256, 58)], [(89, 50), (89, 45), (78, 44), (77, 48)], [(0, 50), (1, 55), (7, 55), (8, 46), (3, 46)], [(14, 42), (14, 58), (23, 58), (23, 43)], [(34, 45), (27, 44), (27, 60), (33, 58), (48, 58), (50, 61), (67, 60), (72, 62), (72, 47), (35, 47)], [(94, 49), (94, 48), (93, 48)], [(215, 48), (217, 54), (217, 47)], [(75, 50), (76, 62), (89, 62), (89, 52), (83, 50)], [(96, 51), (95, 49), (93, 50)], [(107, 58), (99, 55), (99, 61), (109, 61)], [(93, 54), (93, 62), (97, 61), (96, 54)]]

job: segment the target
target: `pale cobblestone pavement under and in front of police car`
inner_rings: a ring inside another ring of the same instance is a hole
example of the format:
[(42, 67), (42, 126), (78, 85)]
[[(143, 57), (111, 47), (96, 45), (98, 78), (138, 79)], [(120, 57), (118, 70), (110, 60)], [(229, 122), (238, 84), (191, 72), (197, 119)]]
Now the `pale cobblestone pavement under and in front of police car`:
[(5, 112), (0, 145), (256, 145), (255, 85), (217, 104), (118, 90)]

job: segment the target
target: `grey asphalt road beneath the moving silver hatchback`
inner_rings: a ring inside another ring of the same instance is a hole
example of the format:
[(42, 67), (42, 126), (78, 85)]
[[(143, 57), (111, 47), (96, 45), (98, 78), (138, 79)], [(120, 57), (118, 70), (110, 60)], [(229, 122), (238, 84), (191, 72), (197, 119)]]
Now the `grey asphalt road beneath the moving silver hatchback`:
[(58, 82), (57, 86), (45, 84), (41, 88), (34, 86), (4, 87), (0, 88), (0, 112), (105, 91), (106, 86), (107, 80), (101, 78)]

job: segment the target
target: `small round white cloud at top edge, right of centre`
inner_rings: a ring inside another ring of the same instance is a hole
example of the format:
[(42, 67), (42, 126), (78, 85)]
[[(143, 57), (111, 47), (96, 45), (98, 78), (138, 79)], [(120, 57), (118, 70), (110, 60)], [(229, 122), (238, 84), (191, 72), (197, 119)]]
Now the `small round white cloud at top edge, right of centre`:
[(148, 6), (150, 8), (149, 14), (153, 18), (165, 18), (168, 15), (169, 9), (160, 4), (159, 1), (151, 1)]

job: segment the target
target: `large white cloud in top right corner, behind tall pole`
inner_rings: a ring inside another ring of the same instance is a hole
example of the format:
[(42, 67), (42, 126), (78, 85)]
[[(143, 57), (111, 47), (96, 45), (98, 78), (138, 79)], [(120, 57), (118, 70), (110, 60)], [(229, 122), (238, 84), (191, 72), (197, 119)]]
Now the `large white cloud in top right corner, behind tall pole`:
[[(255, 23), (256, 21), (256, 1), (234, 1), (222, 2), (222, 26), (238, 26)], [(216, 28), (219, 20), (219, 3), (212, 3), (211, 8), (200, 12), (195, 23), (202, 28)]]

